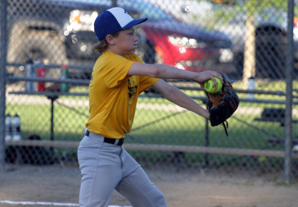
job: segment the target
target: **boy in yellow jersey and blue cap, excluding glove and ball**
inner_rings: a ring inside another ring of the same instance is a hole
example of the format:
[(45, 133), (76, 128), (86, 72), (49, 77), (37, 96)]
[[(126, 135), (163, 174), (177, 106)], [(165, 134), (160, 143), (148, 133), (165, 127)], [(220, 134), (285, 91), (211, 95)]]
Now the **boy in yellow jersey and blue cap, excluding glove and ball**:
[(94, 48), (103, 53), (93, 68), (89, 85), (88, 130), (78, 147), (82, 174), (81, 207), (106, 207), (113, 189), (134, 207), (165, 207), (162, 192), (123, 147), (131, 129), (138, 95), (152, 86), (166, 99), (209, 119), (209, 112), (162, 78), (191, 79), (202, 85), (222, 76), (214, 71), (195, 73), (164, 64), (145, 64), (134, 54), (138, 38), (134, 20), (122, 8), (105, 10), (94, 22), (99, 40)]

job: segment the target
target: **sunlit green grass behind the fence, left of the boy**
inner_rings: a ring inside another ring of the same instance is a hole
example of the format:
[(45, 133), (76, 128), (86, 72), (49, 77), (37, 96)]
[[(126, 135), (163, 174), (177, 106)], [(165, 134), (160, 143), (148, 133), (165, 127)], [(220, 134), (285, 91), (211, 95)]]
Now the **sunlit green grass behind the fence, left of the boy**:
[[(88, 109), (75, 107), (77, 111), (88, 114)], [(18, 114), (21, 118), (21, 136), (26, 139), (31, 134), (38, 134), (44, 140), (51, 135), (51, 106), (8, 104), (10, 115)], [(86, 116), (62, 105), (54, 104), (54, 138), (55, 140), (80, 140), (87, 121)]]

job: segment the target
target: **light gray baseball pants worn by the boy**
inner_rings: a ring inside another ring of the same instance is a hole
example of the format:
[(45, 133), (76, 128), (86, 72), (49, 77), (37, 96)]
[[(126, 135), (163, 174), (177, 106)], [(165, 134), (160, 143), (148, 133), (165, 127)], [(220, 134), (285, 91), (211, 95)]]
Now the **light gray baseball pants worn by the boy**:
[(104, 142), (100, 134), (84, 136), (77, 150), (81, 170), (80, 207), (107, 207), (113, 190), (134, 207), (166, 207), (162, 192), (123, 145)]

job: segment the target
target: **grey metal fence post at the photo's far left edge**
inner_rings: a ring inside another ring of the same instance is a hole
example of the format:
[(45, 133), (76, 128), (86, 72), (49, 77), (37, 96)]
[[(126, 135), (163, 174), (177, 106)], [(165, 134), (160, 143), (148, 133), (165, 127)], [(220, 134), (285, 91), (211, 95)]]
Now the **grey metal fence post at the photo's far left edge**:
[(5, 93), (6, 93), (6, 52), (7, 52), (7, 0), (1, 0), (0, 34), (0, 171), (5, 165)]

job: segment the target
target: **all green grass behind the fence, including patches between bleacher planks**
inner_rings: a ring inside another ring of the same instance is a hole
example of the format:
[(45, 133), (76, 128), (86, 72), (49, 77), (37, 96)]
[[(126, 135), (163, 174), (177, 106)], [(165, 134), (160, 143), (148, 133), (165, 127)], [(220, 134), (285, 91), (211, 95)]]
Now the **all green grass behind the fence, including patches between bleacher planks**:
[[(235, 82), (235, 88), (240, 88), (241, 82)], [(293, 85), (297, 85), (295, 82)], [(198, 84), (197, 84), (198, 85)], [(278, 87), (277, 87), (278, 86)], [(256, 89), (272, 91), (273, 88), (285, 92), (285, 83), (279, 82), (257, 82)], [(72, 88), (72, 92), (88, 92), (87, 88)], [(202, 91), (185, 91), (190, 96), (205, 97)], [(240, 98), (245, 98), (246, 94), (239, 94)], [(276, 95), (256, 95), (257, 99), (284, 100), (284, 96)], [(60, 97), (60, 99), (80, 99), (88, 100), (88, 97)], [(58, 101), (60, 100), (58, 99)], [(164, 98), (139, 98), (139, 103), (173, 105)], [(198, 100), (199, 104), (202, 104)], [(260, 108), (284, 108), (284, 105), (241, 102), (240, 107), (260, 107)], [(297, 106), (294, 106), (297, 108)], [(7, 104), (6, 112), (14, 115), (17, 113), (21, 117), (21, 136), (26, 139), (31, 134), (38, 134), (44, 140), (50, 139), (51, 127), (51, 106), (46, 104)], [(80, 141), (83, 137), (85, 124), (88, 119), (88, 107), (75, 106), (65, 107), (55, 102), (54, 104), (54, 138), (63, 141)], [(237, 119), (236, 119), (237, 118)], [(283, 145), (272, 146), (268, 139), (273, 138), (272, 134), (283, 137), (284, 127), (278, 122), (258, 122), (255, 118), (260, 118), (260, 114), (234, 115), (229, 122), (228, 133), (225, 135), (222, 125), (211, 127), (209, 124), (209, 138), (206, 139), (206, 120), (189, 112), (167, 111), (165, 108), (153, 107), (137, 109), (133, 127), (126, 135), (127, 143), (150, 143), (150, 144), (175, 144), (175, 145), (195, 145), (211, 147), (233, 147), (252, 149), (283, 150)], [(240, 120), (240, 121), (239, 121)], [(293, 127), (293, 134), (296, 129)], [(70, 150), (75, 152), (76, 149)], [(158, 161), (167, 158), (163, 152), (138, 152), (131, 150), (131, 154), (138, 159)], [(204, 161), (204, 154), (186, 153), (184, 158), (189, 162)], [(246, 158), (239, 160), (239, 156), (231, 155), (209, 155), (213, 164), (229, 163), (240, 165), (246, 162)], [(237, 159), (237, 160), (235, 160)], [(275, 158), (274, 162), (281, 162)], [(272, 161), (273, 162), (273, 161)], [(278, 164), (277, 164), (278, 165)]]

